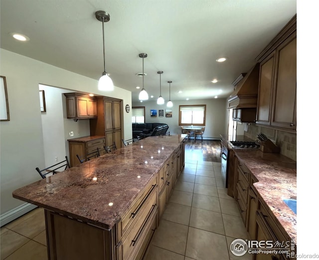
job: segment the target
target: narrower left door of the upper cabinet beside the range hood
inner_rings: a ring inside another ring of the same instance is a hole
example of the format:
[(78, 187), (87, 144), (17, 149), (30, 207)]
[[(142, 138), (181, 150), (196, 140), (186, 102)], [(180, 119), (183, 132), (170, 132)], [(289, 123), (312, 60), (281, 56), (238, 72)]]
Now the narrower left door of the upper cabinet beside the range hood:
[(270, 125), (271, 93), (273, 85), (275, 51), (260, 63), (257, 122)]

